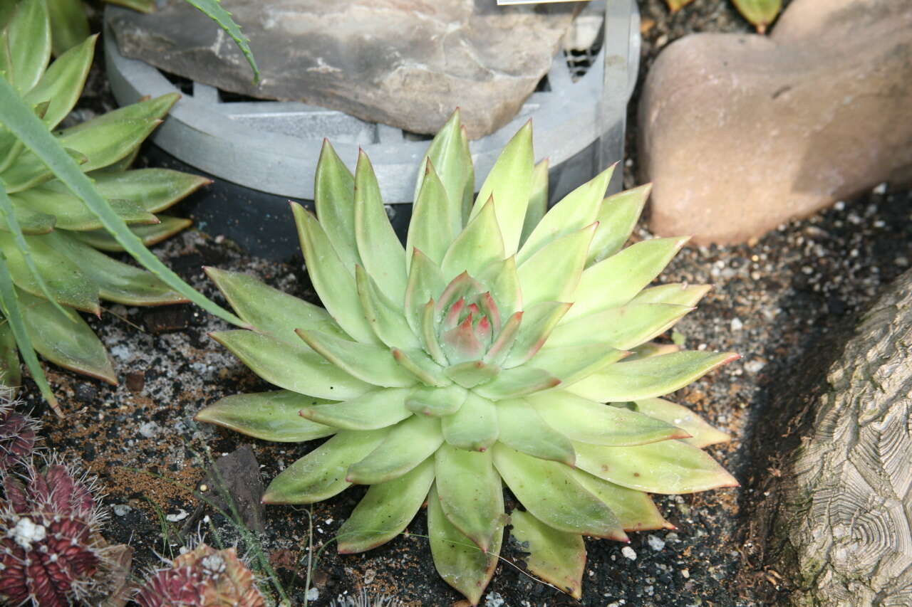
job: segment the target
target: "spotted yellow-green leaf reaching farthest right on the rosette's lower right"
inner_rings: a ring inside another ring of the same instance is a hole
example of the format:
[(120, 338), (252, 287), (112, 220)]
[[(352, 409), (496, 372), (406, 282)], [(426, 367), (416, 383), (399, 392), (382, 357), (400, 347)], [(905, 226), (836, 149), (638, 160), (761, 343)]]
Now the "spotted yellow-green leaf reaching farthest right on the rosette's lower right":
[(634, 447), (574, 442), (574, 448), (577, 468), (629, 489), (674, 494), (738, 486), (715, 459), (679, 440)]

